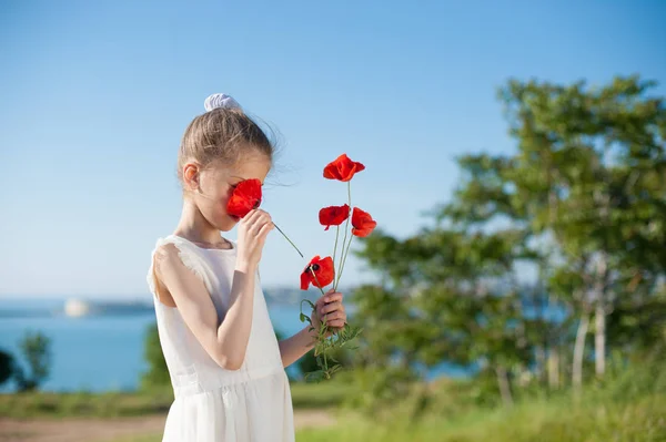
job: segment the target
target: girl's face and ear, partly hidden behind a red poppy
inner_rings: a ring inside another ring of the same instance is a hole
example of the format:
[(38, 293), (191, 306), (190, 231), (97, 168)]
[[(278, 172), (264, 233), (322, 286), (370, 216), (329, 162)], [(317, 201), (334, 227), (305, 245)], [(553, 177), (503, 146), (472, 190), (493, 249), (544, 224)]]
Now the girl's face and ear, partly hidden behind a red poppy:
[(244, 179), (256, 178), (264, 183), (271, 169), (270, 160), (262, 153), (241, 156), (233, 166), (212, 166), (201, 169), (196, 164), (184, 166), (184, 181), (191, 197), (205, 220), (218, 230), (229, 232), (240, 220), (226, 213), (226, 204), (234, 187)]

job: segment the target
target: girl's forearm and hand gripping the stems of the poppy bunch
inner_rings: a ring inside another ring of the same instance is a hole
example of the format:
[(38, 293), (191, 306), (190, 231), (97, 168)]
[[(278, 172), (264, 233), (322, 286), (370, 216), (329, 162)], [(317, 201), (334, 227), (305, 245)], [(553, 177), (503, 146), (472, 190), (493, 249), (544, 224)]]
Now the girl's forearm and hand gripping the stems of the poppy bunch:
[[(341, 330), (344, 327), (346, 312), (342, 305), (342, 294), (330, 290), (319, 298), (314, 306), (315, 310), (310, 319), (315, 330), (319, 329), (324, 317), (331, 331)], [(316, 331), (309, 331), (309, 329), (310, 325), (291, 338), (279, 342), (282, 366), (291, 366), (314, 348)]]

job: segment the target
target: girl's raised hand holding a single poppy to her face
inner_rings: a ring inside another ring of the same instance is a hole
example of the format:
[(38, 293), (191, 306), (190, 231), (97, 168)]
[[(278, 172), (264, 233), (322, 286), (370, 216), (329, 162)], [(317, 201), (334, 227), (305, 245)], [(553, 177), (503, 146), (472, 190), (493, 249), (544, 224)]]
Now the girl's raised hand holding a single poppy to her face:
[(251, 210), (239, 222), (236, 270), (253, 271), (259, 266), (266, 235), (273, 228), (271, 215), (262, 209)]

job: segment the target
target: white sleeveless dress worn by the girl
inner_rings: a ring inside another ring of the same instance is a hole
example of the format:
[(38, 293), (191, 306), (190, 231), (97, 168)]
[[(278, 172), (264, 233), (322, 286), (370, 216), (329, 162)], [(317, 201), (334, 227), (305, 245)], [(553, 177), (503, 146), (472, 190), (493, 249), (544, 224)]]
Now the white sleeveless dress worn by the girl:
[[(173, 244), (183, 264), (202, 278), (218, 318), (229, 309), (235, 268), (233, 249), (204, 249), (179, 236), (160, 238), (155, 249)], [(153, 250), (154, 255), (154, 250)], [(173, 386), (174, 401), (164, 425), (163, 442), (292, 442), (292, 399), (278, 339), (255, 275), (252, 329), (240, 370), (218, 366), (190, 331), (178, 308), (157, 298), (153, 268), (148, 284), (153, 294), (158, 330)]]

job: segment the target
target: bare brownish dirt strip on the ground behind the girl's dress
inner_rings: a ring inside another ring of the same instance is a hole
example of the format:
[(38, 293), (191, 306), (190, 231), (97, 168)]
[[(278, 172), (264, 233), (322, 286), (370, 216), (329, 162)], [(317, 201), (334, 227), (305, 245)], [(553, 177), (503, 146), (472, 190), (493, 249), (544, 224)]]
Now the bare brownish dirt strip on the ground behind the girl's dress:
[[(104, 442), (122, 438), (160, 434), (164, 415), (120, 419), (18, 420), (0, 418), (0, 442)], [(296, 411), (294, 424), (331, 425), (325, 411)]]

